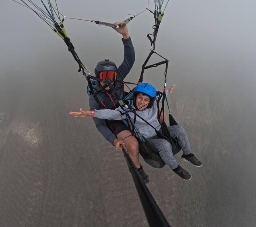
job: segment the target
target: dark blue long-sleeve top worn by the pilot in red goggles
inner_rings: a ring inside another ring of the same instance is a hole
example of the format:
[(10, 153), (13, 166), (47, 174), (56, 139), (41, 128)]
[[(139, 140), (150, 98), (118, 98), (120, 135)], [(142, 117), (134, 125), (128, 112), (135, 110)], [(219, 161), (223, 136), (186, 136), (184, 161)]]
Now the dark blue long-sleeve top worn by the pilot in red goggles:
[[(135, 61), (135, 52), (134, 52), (134, 47), (132, 45), (132, 40), (129, 37), (128, 39), (122, 39), (123, 44), (124, 44), (124, 60), (122, 64), (118, 67), (118, 73), (117, 73), (117, 80), (120, 82), (116, 81), (114, 83), (114, 88), (116, 89), (118, 95), (120, 96), (121, 99), (124, 98), (124, 84), (122, 84), (122, 81), (124, 78), (127, 76), (127, 74), (130, 72), (132, 65)], [(97, 88), (99, 89), (99, 83), (96, 82)], [(108, 94), (107, 94), (108, 93)], [(115, 103), (115, 106), (113, 102), (111, 101), (111, 98)], [(118, 100), (114, 96), (114, 94), (111, 94), (111, 91), (109, 90), (103, 90), (99, 94), (97, 94), (97, 97), (100, 102), (102, 102), (107, 109), (115, 109), (119, 106)], [(91, 95), (89, 98), (89, 105), (91, 110), (99, 110), (102, 108), (95, 98)], [(113, 141), (116, 139), (116, 136), (112, 133), (112, 131), (107, 127), (106, 122), (104, 119), (99, 119), (99, 118), (93, 118), (94, 123), (99, 130), (99, 132), (105, 137), (109, 143), (113, 144)]]

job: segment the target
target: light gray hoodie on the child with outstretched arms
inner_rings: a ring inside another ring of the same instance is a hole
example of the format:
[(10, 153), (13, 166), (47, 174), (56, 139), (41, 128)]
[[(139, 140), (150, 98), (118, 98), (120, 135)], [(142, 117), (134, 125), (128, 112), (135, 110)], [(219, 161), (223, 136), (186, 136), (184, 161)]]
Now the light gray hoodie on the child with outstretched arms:
[[(95, 110), (94, 116), (99, 119), (108, 119), (108, 120), (122, 120), (126, 119), (126, 115), (124, 114), (124, 110), (121, 107), (116, 108), (115, 110)], [(136, 114), (145, 119), (149, 124), (155, 127), (158, 131), (161, 129), (161, 125), (157, 120), (157, 102), (155, 101), (152, 108), (144, 109), (144, 110), (137, 110)], [(129, 112), (129, 115), (133, 121), (134, 113)], [(139, 117), (136, 117), (135, 125), (140, 131), (141, 135), (143, 135), (146, 139), (151, 138), (156, 135), (155, 129), (153, 129), (150, 125), (145, 123)]]

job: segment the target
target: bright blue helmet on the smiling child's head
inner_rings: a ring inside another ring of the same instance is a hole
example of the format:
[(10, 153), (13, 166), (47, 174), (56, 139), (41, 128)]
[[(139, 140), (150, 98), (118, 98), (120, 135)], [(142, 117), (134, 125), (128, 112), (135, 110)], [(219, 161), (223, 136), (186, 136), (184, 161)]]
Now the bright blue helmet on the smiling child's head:
[[(149, 105), (147, 106), (147, 108), (151, 108), (153, 106), (153, 100), (155, 99), (155, 97), (157, 96), (157, 91), (155, 90), (155, 87), (149, 83), (141, 83), (138, 84), (133, 91), (133, 101), (134, 101), (134, 105), (136, 103), (136, 97), (138, 95), (138, 93), (143, 93), (146, 94), (147, 96), (150, 97), (151, 102), (149, 103)], [(136, 106), (136, 105), (135, 105)]]

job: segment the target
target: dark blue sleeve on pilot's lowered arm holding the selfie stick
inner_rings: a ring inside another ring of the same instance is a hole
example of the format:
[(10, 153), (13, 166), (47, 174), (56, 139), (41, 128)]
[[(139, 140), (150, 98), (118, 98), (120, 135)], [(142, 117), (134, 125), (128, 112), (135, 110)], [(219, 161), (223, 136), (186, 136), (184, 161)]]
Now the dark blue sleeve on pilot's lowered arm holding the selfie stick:
[[(95, 98), (93, 98), (93, 96), (90, 96), (89, 105), (90, 105), (90, 110), (101, 109), (101, 107), (96, 102)], [(96, 125), (96, 128), (101, 133), (101, 135), (103, 135), (103, 137), (113, 145), (113, 141), (116, 139), (116, 136), (112, 133), (109, 127), (107, 127), (106, 121), (104, 119), (99, 119), (95, 117), (93, 118), (93, 121)]]

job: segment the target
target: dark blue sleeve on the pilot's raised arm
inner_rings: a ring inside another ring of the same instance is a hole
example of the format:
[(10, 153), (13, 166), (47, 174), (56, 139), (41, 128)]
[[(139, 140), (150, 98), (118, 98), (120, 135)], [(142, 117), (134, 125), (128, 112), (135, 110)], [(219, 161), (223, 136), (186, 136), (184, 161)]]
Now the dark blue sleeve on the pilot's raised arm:
[(135, 51), (132, 45), (131, 37), (128, 39), (122, 39), (122, 41), (124, 44), (124, 60), (118, 67), (118, 79), (123, 81), (127, 74), (130, 72), (135, 61)]

